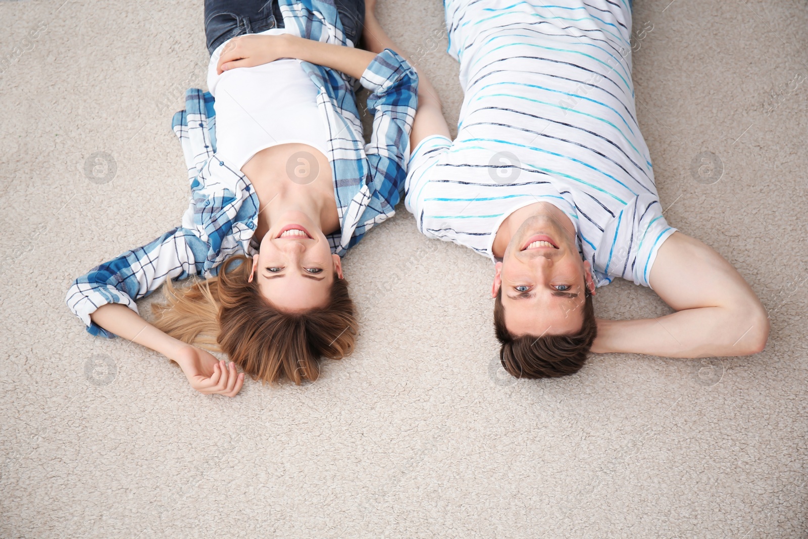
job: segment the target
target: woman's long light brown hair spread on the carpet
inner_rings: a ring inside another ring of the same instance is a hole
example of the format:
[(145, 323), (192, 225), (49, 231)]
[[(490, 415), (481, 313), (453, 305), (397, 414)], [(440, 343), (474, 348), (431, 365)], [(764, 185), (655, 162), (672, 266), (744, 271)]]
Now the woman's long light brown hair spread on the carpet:
[[(237, 265), (238, 263), (238, 265)], [(155, 326), (175, 339), (225, 352), (254, 380), (295, 384), (317, 380), (319, 359), (339, 360), (356, 340), (347, 282), (336, 275), (328, 305), (303, 313), (276, 309), (248, 282), (252, 260), (234, 256), (219, 275), (178, 288), (166, 282), (166, 303), (152, 305)]]

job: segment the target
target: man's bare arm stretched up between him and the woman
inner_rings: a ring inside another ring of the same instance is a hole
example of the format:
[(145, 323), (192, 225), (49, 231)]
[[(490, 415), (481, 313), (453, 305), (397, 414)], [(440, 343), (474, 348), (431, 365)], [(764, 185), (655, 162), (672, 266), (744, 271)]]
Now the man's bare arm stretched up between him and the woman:
[(374, 13), (375, 5), (375, 1), (368, 2), (366, 0), (365, 2), (363, 30), (365, 46), (373, 53), (381, 53), (385, 48), (393, 49), (406, 61), (409, 61), (410, 65), (418, 73), (418, 111), (415, 112), (415, 120), (410, 131), (410, 151), (415, 149), (415, 146), (420, 141), (431, 135), (443, 135), (449, 138), (449, 128), (441, 111), (442, 105), (440, 104), (438, 92), (423, 73), (423, 69), (419, 69), (417, 65), (413, 64), (402, 49), (393, 43), (385, 29), (381, 27)]

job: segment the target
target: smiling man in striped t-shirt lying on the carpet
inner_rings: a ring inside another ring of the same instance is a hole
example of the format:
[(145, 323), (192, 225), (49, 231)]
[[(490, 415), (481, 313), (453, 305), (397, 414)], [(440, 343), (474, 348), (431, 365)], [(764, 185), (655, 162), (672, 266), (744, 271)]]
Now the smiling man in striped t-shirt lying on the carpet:
[[(763, 350), (767, 314), (743, 277), (663, 217), (634, 110), (629, 4), (447, 0), (445, 8), (465, 99), (452, 141), (422, 76), (406, 208), (423, 234), (495, 262), (503, 367), (559, 377), (577, 372), (588, 352)], [(596, 287), (615, 277), (653, 288), (676, 312), (595, 318)]]

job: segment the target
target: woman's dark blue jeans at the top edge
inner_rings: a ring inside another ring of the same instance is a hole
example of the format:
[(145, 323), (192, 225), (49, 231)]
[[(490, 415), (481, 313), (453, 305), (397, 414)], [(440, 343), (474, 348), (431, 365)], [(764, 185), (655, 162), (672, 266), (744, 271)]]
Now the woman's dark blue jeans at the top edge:
[[(347, 38), (359, 43), (364, 26), (364, 0), (334, 0)], [(208, 53), (235, 36), (283, 28), (278, 0), (205, 0), (204, 34)]]

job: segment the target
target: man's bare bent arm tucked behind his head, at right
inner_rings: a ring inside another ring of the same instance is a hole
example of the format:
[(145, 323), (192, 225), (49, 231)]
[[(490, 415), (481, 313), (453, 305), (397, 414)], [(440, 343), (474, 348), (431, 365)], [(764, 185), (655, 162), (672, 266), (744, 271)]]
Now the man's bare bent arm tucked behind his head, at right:
[(598, 319), (592, 352), (747, 356), (766, 346), (764, 306), (739, 272), (704, 243), (672, 234), (659, 248), (650, 284), (677, 312), (642, 320)]

